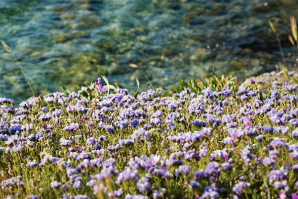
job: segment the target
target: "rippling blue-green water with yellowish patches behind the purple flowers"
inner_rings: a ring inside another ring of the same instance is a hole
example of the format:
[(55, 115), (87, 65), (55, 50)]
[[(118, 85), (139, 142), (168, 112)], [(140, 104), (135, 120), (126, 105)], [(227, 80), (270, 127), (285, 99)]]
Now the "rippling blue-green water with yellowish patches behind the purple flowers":
[[(36, 95), (96, 80), (131, 91), (169, 88), (179, 79), (232, 73), (239, 80), (288, 60), (293, 0), (1, 0), (0, 39), (22, 65)], [(131, 68), (136, 64), (138, 68)], [(146, 74), (146, 76), (144, 75)], [(20, 102), (31, 91), (13, 58), (0, 53), (0, 97)]]

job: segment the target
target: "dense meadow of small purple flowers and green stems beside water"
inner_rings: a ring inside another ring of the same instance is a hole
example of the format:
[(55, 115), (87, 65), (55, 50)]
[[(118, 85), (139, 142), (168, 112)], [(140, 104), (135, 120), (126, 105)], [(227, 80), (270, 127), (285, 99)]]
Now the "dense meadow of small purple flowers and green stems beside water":
[(298, 199), (298, 86), (263, 83), (0, 98), (0, 198)]

